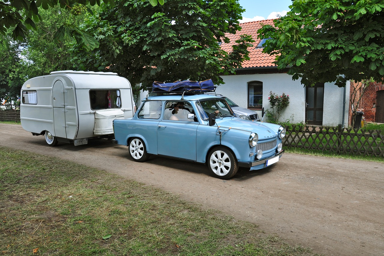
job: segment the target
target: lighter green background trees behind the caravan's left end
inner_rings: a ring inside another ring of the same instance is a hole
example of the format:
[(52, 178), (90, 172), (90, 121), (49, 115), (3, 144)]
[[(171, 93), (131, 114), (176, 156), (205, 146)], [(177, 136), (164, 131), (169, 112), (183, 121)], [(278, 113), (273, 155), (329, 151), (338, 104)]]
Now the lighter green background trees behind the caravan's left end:
[(23, 40), (12, 40), (10, 31), (0, 35), (0, 98), (7, 95), (15, 100), (29, 78), (73, 68), (70, 52), (73, 42), (65, 38), (56, 43), (54, 35), (60, 24), (78, 25), (81, 15), (73, 17), (70, 11), (58, 6), (39, 13), (42, 20), (36, 22), (38, 29), (29, 31)]

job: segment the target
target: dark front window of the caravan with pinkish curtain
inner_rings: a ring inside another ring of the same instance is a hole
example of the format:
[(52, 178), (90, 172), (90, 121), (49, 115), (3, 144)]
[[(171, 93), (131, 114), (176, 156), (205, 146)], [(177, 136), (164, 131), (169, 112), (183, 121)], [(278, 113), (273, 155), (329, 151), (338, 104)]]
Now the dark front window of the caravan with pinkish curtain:
[(91, 109), (121, 108), (120, 90), (89, 90)]

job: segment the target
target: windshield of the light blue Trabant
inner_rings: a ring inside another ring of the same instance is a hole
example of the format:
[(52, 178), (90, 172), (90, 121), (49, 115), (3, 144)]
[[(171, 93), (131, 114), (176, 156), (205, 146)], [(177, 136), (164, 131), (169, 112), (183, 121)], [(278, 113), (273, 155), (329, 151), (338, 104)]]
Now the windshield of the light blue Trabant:
[(209, 99), (209, 100), (200, 100), (197, 103), (197, 108), (199, 110), (200, 116), (207, 120), (210, 113), (214, 113), (216, 117), (232, 117), (233, 112), (227, 101), (223, 99)]

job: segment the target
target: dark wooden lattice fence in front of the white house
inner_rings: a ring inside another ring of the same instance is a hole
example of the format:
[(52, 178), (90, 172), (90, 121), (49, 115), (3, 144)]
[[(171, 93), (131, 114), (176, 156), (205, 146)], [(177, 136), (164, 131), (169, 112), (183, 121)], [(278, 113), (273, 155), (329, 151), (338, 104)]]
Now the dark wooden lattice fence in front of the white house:
[(384, 135), (379, 130), (325, 126), (286, 127), (283, 145), (323, 153), (384, 157)]

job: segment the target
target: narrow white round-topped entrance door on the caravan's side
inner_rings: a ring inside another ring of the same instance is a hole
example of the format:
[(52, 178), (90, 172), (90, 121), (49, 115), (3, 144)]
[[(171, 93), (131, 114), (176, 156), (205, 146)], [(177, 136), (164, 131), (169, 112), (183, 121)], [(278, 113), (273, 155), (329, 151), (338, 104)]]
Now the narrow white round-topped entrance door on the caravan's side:
[(71, 140), (76, 138), (77, 115), (74, 88), (64, 86), (61, 80), (53, 85), (53, 123), (56, 137)]

